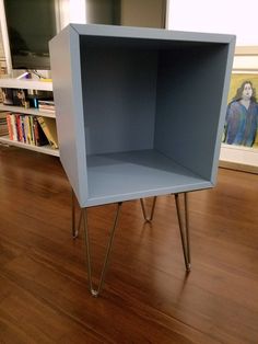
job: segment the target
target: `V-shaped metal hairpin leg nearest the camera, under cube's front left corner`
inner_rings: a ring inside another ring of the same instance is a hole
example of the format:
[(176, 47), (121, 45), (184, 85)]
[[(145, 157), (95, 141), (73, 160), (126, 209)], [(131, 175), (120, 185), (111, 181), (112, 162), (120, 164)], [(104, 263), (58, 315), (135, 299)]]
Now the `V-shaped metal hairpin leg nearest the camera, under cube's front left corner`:
[(118, 222), (118, 217), (119, 217), (121, 205), (122, 205), (121, 202), (117, 204), (115, 221), (114, 221), (113, 228), (112, 228), (110, 233), (109, 233), (109, 240), (107, 243), (106, 254), (105, 254), (104, 264), (103, 264), (101, 278), (99, 278), (99, 283), (98, 283), (97, 288), (93, 287), (93, 282), (92, 282), (92, 264), (91, 264), (92, 257), (91, 257), (91, 250), (90, 250), (87, 214), (86, 214), (86, 208), (82, 209), (83, 228), (84, 228), (84, 236), (85, 236), (86, 262), (87, 262), (89, 288), (90, 288), (92, 296), (94, 296), (94, 297), (97, 297), (99, 295), (99, 293), (102, 291), (102, 288), (103, 288), (103, 283), (105, 279), (106, 270), (107, 270), (107, 265), (109, 262), (109, 255), (110, 255), (112, 245), (113, 245), (113, 241), (114, 241), (115, 229), (117, 228), (117, 222)]

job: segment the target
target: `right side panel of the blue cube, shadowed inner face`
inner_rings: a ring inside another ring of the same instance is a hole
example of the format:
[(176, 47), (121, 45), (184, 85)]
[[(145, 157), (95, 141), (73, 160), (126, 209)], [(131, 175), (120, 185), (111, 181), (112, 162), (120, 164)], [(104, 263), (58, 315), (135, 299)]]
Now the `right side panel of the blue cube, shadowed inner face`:
[(206, 43), (162, 51), (159, 65), (155, 148), (212, 183), (227, 58), (227, 44)]

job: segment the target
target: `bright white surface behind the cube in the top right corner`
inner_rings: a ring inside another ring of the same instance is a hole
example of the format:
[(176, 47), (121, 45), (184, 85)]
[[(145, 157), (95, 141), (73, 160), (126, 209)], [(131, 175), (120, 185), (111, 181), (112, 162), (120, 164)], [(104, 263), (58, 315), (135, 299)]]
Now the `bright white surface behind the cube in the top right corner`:
[(258, 45), (258, 0), (171, 0), (168, 28), (236, 34), (236, 45)]

